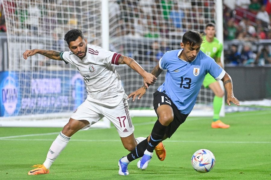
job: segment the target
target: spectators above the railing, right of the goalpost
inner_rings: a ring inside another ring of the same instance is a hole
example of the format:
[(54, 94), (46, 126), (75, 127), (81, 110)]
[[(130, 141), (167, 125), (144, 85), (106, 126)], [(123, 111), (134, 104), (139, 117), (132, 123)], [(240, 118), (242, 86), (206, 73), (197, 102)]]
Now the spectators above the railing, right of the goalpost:
[[(225, 40), (270, 39), (271, 2), (269, 0), (224, 0)], [(235, 3), (234, 3), (235, 2)]]

